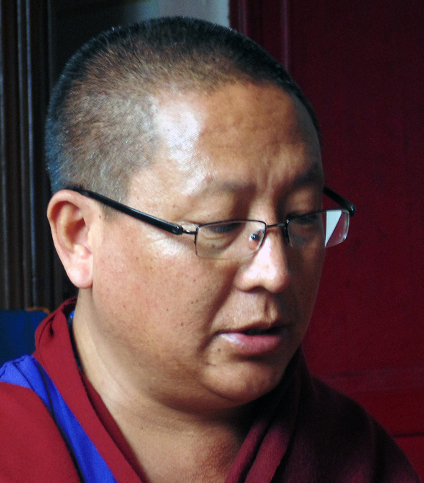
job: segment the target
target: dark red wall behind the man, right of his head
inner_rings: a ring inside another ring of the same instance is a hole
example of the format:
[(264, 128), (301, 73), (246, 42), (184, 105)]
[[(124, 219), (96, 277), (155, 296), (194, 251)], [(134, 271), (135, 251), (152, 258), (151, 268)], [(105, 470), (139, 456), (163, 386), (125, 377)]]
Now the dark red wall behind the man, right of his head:
[(310, 98), (327, 183), (358, 208), (327, 254), (310, 367), (364, 404), (424, 478), (424, 2), (240, 0), (236, 27), (240, 12)]

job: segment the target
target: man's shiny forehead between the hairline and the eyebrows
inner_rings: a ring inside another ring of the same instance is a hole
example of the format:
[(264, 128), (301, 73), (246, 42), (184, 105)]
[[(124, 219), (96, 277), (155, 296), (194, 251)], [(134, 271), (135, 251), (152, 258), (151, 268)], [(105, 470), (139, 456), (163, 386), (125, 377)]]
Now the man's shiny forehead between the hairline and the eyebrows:
[(297, 98), (271, 85), (156, 97), (159, 149), (140, 173), (181, 194), (322, 179), (318, 136)]

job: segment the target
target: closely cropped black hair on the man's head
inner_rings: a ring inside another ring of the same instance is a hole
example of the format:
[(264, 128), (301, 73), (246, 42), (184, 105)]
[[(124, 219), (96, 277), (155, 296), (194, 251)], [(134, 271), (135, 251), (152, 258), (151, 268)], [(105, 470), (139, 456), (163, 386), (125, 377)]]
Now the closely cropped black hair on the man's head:
[(262, 47), (235, 30), (164, 17), (112, 28), (85, 44), (55, 86), (46, 123), (52, 191), (79, 186), (123, 200), (158, 146), (152, 102), (161, 91), (212, 92), (226, 83), (271, 84), (309, 101)]

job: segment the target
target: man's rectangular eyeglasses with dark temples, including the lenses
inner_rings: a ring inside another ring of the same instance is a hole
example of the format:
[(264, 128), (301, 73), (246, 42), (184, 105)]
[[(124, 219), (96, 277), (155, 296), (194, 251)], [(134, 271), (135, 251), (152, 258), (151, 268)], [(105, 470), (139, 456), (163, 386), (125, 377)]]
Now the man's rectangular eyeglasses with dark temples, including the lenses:
[(253, 256), (262, 246), (268, 231), (274, 228), (280, 229), (283, 239), (288, 245), (299, 250), (333, 247), (346, 239), (350, 217), (356, 212), (353, 203), (330, 188), (324, 187), (324, 194), (341, 208), (294, 215), (287, 218), (285, 222), (272, 225), (259, 220), (227, 220), (204, 223), (198, 225), (195, 230), (186, 230), (181, 225), (130, 208), (94, 191), (74, 187), (67, 189), (99, 201), (168, 233), (193, 235), (197, 256), (221, 260), (236, 260)]

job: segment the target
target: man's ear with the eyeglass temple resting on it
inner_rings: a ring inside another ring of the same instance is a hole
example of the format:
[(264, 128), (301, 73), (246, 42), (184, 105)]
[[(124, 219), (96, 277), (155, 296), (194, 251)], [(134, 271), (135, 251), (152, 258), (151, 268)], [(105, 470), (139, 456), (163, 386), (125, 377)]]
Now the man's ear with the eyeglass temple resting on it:
[(53, 242), (71, 282), (78, 288), (93, 283), (90, 230), (96, 206), (74, 191), (55, 193), (47, 208)]

